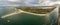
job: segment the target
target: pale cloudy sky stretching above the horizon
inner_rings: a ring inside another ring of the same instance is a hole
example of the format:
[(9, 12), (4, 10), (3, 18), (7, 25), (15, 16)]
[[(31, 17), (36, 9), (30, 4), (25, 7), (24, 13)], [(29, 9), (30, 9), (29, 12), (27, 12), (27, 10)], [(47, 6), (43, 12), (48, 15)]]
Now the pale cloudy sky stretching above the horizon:
[(52, 2), (50, 0), (0, 0), (0, 6), (40, 6), (52, 5), (55, 3), (60, 4), (59, 2)]

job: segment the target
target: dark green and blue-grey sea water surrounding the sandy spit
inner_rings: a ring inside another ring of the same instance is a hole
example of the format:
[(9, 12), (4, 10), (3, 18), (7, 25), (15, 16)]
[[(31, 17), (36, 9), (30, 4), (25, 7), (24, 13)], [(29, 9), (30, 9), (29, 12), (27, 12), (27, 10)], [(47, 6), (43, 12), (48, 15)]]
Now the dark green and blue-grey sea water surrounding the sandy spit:
[(3, 15), (12, 12), (16, 12), (16, 10), (0, 7), (0, 25), (56, 25), (56, 20), (54, 19), (56, 15), (54, 16), (54, 12), (49, 16), (50, 22), (46, 21), (46, 16), (36, 16), (26, 13), (9, 16), (5, 19), (1, 18)]

